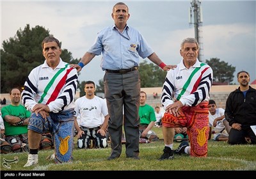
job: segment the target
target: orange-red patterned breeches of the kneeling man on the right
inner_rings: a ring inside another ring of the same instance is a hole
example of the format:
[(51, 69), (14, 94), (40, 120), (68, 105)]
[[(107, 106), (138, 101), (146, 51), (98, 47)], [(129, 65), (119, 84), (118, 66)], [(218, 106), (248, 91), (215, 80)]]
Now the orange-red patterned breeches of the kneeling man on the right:
[(187, 127), (191, 146), (191, 156), (207, 157), (209, 137), (208, 102), (202, 102), (195, 107), (184, 106), (179, 109), (180, 116), (165, 113), (162, 118), (164, 127)]

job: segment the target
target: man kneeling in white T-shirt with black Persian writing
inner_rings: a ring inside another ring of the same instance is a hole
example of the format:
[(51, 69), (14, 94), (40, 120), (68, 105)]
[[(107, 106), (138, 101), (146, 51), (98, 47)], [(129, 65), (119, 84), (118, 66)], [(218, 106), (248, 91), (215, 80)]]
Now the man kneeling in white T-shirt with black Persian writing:
[(77, 118), (75, 119), (77, 147), (106, 148), (108, 147), (106, 132), (109, 120), (106, 100), (94, 94), (95, 83), (93, 81), (84, 83), (84, 92), (86, 95), (78, 98), (75, 102), (75, 116), (80, 116), (80, 126), (77, 123)]

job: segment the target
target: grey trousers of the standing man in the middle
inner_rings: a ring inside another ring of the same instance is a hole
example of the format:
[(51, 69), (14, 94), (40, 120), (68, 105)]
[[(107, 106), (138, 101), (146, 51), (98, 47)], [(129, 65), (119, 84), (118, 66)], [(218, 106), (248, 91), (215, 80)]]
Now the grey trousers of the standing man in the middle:
[(127, 74), (106, 72), (104, 75), (104, 90), (109, 113), (108, 131), (111, 139), (111, 157), (120, 157), (122, 153), (123, 121), (126, 157), (138, 157), (140, 153), (140, 118), (138, 114), (140, 107), (140, 74), (138, 70)]

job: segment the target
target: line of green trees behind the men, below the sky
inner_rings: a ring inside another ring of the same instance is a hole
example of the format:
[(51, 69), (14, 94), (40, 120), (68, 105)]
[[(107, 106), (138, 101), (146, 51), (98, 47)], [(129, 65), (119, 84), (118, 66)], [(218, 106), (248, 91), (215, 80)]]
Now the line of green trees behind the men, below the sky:
[[(49, 35), (49, 29), (45, 29), (42, 26), (30, 27), (27, 24), (23, 30), (17, 30), (15, 36), (3, 41), (3, 49), (1, 49), (1, 93), (8, 93), (10, 88), (13, 87), (22, 90), (31, 70), (42, 64), (44, 56), (42, 55), (41, 43), (45, 36)], [(67, 49), (62, 49), (61, 59), (67, 63), (76, 64), (81, 58), (74, 59), (71, 52)], [(231, 84), (236, 67), (228, 65), (225, 61), (220, 61), (219, 58), (206, 59), (205, 63), (212, 67), (214, 82)], [(148, 63), (146, 60), (140, 63), (139, 72), (141, 88), (163, 86), (167, 73), (159, 66), (154, 65), (154, 63)], [(78, 89), (81, 91), (80, 96), (83, 96), (84, 81), (78, 82)], [(103, 77), (99, 80), (96, 92), (104, 93)]]

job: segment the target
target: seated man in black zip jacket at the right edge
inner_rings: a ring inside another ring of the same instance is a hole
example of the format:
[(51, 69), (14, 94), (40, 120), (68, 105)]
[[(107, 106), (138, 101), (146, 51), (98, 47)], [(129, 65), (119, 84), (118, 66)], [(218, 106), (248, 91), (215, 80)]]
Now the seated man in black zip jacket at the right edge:
[[(225, 118), (232, 127), (228, 133), (229, 144), (256, 144), (256, 135), (252, 126), (256, 125), (256, 89), (249, 86), (250, 74), (237, 73), (239, 88), (227, 98)], [(249, 137), (250, 140), (246, 140)]]

